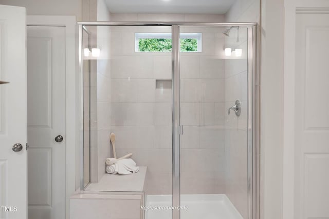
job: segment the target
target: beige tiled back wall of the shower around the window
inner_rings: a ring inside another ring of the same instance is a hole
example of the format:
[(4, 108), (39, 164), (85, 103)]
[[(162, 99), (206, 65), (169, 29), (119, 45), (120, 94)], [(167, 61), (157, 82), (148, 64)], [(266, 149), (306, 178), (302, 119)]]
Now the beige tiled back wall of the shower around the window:
[[(181, 139), (182, 193), (224, 191), (222, 31), (181, 29), (203, 33), (202, 53), (181, 54), (181, 122), (185, 125)], [(137, 165), (148, 167), (148, 194), (170, 194), (171, 53), (135, 52), (134, 33), (171, 32), (171, 28), (111, 27), (110, 32), (111, 74), (106, 75), (106, 82), (111, 90), (106, 95), (110, 94), (111, 103), (106, 104), (106, 110), (111, 114), (111, 127), (104, 129), (104, 135), (115, 132), (117, 155), (133, 152)], [(99, 142), (101, 147), (108, 147), (108, 140)]]

